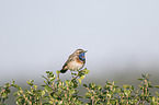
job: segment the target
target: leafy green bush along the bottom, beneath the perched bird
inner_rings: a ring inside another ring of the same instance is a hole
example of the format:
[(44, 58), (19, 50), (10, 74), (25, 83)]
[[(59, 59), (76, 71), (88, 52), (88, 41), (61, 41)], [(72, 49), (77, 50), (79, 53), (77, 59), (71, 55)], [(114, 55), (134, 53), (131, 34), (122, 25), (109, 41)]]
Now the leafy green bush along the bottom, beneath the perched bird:
[[(77, 89), (81, 84), (81, 80), (86, 78), (89, 70), (83, 69), (78, 73), (71, 73), (72, 79), (61, 81), (60, 72), (55, 75), (50, 71), (46, 71), (47, 77), (42, 75), (45, 81), (43, 90), (38, 90), (34, 84), (34, 80), (26, 81), (29, 89), (22, 89), (15, 81), (7, 83), (0, 88), (0, 104), (5, 105), (5, 101), (10, 94), (10, 89), (15, 88), (15, 103), (18, 105), (139, 105), (139, 104), (159, 104), (159, 94), (152, 95), (149, 90), (159, 89), (159, 85), (151, 85), (149, 74), (141, 74), (138, 80), (141, 82), (138, 90), (134, 85), (124, 84), (122, 88), (116, 85), (117, 81), (106, 81), (104, 86), (94, 83), (83, 84), (88, 90), (84, 96), (79, 96)], [(87, 98), (87, 102), (82, 102)]]

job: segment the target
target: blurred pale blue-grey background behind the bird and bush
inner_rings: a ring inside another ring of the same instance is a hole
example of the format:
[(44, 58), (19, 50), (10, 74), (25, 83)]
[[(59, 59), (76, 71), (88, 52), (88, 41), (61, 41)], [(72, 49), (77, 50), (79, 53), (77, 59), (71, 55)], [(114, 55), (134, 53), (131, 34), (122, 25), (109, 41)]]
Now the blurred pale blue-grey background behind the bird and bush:
[(83, 83), (136, 84), (149, 73), (159, 84), (158, 5), (158, 0), (1, 0), (0, 86), (14, 79), (26, 88), (32, 79), (41, 88), (42, 74), (60, 70), (78, 48), (88, 50)]

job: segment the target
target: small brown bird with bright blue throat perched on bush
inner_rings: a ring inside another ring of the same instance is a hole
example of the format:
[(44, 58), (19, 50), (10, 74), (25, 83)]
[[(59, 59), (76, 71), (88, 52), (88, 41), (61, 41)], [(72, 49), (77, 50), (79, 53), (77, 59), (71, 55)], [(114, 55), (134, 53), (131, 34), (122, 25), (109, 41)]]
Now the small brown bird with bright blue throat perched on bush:
[(63, 66), (60, 72), (65, 73), (68, 69), (71, 71), (78, 71), (81, 68), (83, 68), (86, 63), (86, 57), (84, 57), (86, 52), (87, 50), (77, 49), (72, 55), (69, 56), (68, 60)]

